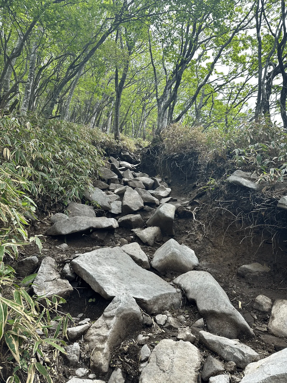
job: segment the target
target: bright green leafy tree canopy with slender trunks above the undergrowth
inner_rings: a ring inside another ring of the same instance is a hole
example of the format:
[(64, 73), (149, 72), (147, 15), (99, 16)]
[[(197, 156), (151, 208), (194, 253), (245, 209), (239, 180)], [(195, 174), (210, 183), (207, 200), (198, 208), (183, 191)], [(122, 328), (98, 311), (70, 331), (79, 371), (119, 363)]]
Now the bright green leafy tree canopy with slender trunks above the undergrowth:
[(4, 0), (0, 109), (130, 137), (287, 128), (285, 1)]

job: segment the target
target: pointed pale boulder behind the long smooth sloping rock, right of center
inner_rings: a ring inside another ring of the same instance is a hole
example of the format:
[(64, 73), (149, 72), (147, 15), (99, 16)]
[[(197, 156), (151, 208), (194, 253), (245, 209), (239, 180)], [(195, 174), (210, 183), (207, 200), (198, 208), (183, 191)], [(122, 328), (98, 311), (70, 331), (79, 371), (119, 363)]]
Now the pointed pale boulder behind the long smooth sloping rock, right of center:
[(152, 267), (161, 274), (168, 271), (186, 273), (199, 265), (194, 251), (173, 238), (165, 242), (153, 255)]

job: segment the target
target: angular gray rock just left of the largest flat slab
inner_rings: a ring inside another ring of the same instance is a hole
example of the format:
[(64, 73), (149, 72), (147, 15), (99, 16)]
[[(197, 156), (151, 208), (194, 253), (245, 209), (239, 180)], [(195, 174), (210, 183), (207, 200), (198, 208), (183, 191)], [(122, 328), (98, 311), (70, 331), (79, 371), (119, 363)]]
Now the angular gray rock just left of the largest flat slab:
[(59, 295), (65, 298), (73, 288), (66, 279), (60, 278), (54, 258), (46, 257), (42, 260), (37, 277), (34, 279), (33, 291), (38, 296)]

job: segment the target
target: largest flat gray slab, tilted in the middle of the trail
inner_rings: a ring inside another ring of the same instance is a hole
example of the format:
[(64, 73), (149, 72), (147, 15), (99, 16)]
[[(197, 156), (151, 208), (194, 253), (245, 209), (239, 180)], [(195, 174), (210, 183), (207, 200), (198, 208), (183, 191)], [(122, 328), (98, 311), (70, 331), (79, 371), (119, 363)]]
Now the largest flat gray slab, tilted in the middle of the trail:
[(107, 300), (126, 293), (148, 313), (179, 307), (181, 293), (154, 273), (137, 265), (119, 247), (106, 247), (72, 260), (71, 266), (93, 290)]

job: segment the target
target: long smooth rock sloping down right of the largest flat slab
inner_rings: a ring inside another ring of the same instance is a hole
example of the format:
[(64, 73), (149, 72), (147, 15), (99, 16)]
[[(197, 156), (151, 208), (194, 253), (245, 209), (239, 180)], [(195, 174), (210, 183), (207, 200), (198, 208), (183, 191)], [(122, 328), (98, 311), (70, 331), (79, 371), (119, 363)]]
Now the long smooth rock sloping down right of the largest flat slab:
[(210, 273), (189, 271), (179, 275), (173, 283), (183, 288), (189, 301), (196, 301), (210, 332), (230, 339), (254, 336), (243, 316), (232, 306), (227, 294)]

